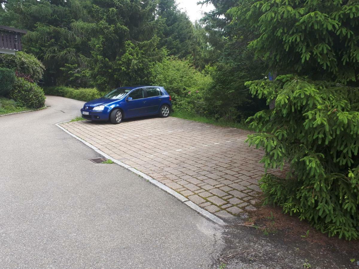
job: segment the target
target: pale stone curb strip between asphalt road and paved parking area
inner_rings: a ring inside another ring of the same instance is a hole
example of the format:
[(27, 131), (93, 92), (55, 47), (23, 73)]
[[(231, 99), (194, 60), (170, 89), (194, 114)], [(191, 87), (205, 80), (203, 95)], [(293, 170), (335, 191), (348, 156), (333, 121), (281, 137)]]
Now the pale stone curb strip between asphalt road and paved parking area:
[(151, 178), (149, 175), (146, 175), (144, 173), (142, 173), (141, 171), (127, 165), (124, 164), (123, 162), (120, 162), (116, 159), (113, 159), (111, 156), (107, 155), (106, 153), (104, 153), (103, 151), (99, 150), (97, 147), (91, 145), (90, 143), (86, 142), (85, 140), (81, 139), (80, 137), (74, 135), (73, 133), (67, 131), (64, 127), (60, 126), (61, 123), (66, 123), (66, 122), (70, 122), (70, 121), (65, 121), (65, 122), (60, 122), (60, 123), (56, 123), (55, 125), (57, 127), (59, 127), (62, 131), (65, 131), (66, 133), (68, 133), (70, 136), (75, 137), (77, 140), (81, 141), (82, 143), (84, 143), (86, 146), (92, 148), (94, 151), (96, 151), (98, 154), (102, 155), (103, 157), (105, 157), (106, 159), (110, 159), (113, 162), (115, 162), (116, 164), (126, 168), (127, 170), (130, 170), (132, 173), (135, 173), (137, 175), (139, 175), (141, 178), (144, 178), (146, 180), (148, 180), (151, 184), (155, 185), (156, 187), (162, 189), (163, 191), (167, 192), (168, 194), (171, 194), (172, 196), (174, 196), (176, 199), (180, 200), (182, 203), (186, 204), (186, 206), (192, 208), (193, 210), (195, 210), (197, 213), (201, 214), (202, 216), (204, 216), (205, 218), (208, 218), (209, 220), (219, 224), (219, 225), (225, 225), (226, 223), (221, 220), (219, 217), (215, 216), (214, 214), (206, 211), (203, 208), (200, 208), (199, 206), (197, 206), (195, 203), (191, 202), (190, 200), (188, 200), (186, 197), (184, 197), (183, 195), (177, 193), (176, 191), (172, 190), (171, 188), (167, 187), (166, 185), (160, 183), (159, 181)]

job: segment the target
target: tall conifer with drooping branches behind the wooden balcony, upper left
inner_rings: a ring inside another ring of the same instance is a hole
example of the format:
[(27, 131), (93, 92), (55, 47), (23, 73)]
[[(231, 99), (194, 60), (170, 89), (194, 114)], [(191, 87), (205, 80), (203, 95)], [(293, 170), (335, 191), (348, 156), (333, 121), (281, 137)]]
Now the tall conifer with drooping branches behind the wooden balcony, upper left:
[[(81, 55), (89, 55), (88, 34), (83, 34), (84, 22), (89, 22), (87, 1), (78, 0), (9, 0), (5, 4), (5, 25), (28, 30), (23, 38), (24, 51), (31, 52), (46, 66), (49, 84), (65, 84), (65, 65), (79, 69), (85, 64)], [(6, 20), (6, 21), (5, 21)]]

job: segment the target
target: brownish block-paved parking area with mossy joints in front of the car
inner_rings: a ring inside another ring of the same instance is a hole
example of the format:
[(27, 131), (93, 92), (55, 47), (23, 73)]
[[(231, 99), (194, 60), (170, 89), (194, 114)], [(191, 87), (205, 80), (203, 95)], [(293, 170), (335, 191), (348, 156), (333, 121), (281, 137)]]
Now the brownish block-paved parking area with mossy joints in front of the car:
[(263, 151), (244, 143), (249, 131), (173, 117), (62, 126), (219, 217), (259, 202)]

